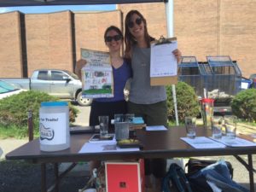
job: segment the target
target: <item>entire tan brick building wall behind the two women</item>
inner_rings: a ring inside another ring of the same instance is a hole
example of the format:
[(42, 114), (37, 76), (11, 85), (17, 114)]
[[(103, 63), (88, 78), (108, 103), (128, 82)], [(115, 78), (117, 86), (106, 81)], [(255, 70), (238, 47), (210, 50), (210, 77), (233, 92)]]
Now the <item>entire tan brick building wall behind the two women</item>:
[[(80, 48), (108, 50), (103, 42), (106, 27), (121, 27), (122, 18), (125, 20), (131, 9), (138, 9), (145, 16), (151, 36), (166, 36), (164, 3), (120, 4), (118, 9), (25, 15), (28, 76), (42, 67), (73, 71)], [(230, 55), (239, 63), (243, 76), (256, 73), (255, 9), (256, 2), (252, 0), (174, 1), (174, 36), (178, 48), (183, 55), (195, 55), (198, 61), (206, 61), (206, 55)], [(19, 15), (19, 12), (0, 15), (0, 78), (22, 77)]]

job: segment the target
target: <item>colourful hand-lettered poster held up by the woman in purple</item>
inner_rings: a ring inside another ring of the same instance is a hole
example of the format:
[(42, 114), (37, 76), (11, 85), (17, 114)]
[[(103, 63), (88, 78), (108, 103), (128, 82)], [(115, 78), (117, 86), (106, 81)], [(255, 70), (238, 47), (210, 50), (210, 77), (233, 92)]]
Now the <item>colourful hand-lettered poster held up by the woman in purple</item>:
[(87, 61), (82, 68), (83, 97), (113, 97), (113, 71), (109, 53), (81, 49), (81, 58)]

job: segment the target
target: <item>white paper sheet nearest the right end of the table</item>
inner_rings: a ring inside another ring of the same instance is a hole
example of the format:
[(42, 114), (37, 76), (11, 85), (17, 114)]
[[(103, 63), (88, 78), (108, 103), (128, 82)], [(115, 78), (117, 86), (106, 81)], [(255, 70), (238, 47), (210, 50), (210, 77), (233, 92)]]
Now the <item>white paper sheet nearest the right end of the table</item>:
[(226, 146), (229, 147), (250, 147), (250, 146), (256, 146), (256, 143), (249, 142), (245, 139), (236, 137), (235, 139), (229, 139), (227, 137), (222, 137), (221, 139), (214, 139), (210, 137), (212, 140), (218, 142), (218, 143), (223, 143)]

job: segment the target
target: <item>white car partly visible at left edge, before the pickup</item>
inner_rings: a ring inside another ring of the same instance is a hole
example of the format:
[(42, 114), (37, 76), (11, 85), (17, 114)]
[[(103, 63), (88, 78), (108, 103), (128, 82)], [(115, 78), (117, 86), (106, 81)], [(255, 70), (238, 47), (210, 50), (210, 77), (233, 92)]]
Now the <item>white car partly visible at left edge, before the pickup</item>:
[(24, 89), (20, 89), (16, 87), (14, 84), (9, 84), (3, 80), (0, 80), (0, 99), (3, 99), (7, 96), (13, 96), (15, 94), (19, 94), (22, 91), (26, 91)]

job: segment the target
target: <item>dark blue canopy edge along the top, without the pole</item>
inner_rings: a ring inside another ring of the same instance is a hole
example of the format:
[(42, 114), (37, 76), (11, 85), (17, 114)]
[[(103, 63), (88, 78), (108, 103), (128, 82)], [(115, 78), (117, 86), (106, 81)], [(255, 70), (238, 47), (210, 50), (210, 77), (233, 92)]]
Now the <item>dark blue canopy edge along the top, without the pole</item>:
[(0, 0), (0, 7), (42, 6), (42, 5), (89, 5), (122, 3), (156, 3), (168, 0)]

